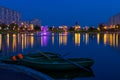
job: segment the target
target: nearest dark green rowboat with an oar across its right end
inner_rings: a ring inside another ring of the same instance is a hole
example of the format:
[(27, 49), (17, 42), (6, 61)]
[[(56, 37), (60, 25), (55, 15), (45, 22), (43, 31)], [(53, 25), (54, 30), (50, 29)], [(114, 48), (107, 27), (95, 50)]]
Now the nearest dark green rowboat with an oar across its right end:
[[(93, 65), (93, 60), (88, 58), (69, 58), (68, 60), (81, 65), (82, 67), (91, 67)], [(79, 68), (69, 62), (64, 61), (63, 59), (30, 59), (24, 58), (21, 59), (21, 65), (31, 67), (37, 70), (70, 70)], [(82, 68), (81, 68), (82, 69)]]

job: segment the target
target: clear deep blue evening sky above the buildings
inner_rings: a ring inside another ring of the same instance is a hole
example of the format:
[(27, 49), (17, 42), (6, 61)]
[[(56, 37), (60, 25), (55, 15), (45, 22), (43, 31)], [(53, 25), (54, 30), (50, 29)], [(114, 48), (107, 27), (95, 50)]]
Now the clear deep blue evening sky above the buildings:
[(120, 0), (0, 0), (19, 11), (22, 19), (39, 18), (42, 25), (97, 26), (120, 12)]

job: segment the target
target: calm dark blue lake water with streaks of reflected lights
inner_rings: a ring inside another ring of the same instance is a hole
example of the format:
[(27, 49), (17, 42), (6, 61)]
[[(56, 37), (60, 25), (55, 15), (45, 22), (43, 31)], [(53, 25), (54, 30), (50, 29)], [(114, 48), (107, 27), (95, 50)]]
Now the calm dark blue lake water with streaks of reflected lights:
[(0, 34), (0, 56), (34, 51), (56, 52), (65, 57), (92, 58), (93, 77), (74, 80), (120, 80), (120, 34)]

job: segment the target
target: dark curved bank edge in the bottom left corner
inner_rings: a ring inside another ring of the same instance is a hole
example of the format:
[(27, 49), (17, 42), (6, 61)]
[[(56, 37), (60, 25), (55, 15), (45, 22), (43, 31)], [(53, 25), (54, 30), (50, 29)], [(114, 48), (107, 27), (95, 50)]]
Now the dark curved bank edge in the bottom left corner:
[[(0, 63), (0, 71), (2, 71), (4, 73), (2, 75), (2, 78), (4, 78), (4, 79), (8, 78), (11, 80), (11, 78), (12, 78), (12, 80), (16, 80), (15, 78), (17, 78), (17, 80), (20, 80), (19, 78), (22, 78), (21, 76), (23, 76), (24, 80), (27, 80), (27, 79), (30, 79), (30, 80), (53, 80), (51, 77), (49, 77), (41, 72), (35, 71), (31, 68), (27, 68), (24, 66)], [(11, 73), (11, 74), (8, 74), (8, 73)], [(2, 74), (2, 73), (0, 72), (0, 74)], [(15, 76), (12, 74), (15, 74)], [(7, 78), (6, 78), (6, 75), (8, 76)]]

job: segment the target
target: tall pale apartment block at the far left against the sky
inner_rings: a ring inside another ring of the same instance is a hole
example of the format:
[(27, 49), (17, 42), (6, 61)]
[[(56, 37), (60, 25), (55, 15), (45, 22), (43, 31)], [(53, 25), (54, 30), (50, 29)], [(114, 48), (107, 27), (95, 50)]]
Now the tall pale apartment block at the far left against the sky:
[(0, 6), (0, 23), (17, 23), (20, 24), (21, 15), (15, 10), (11, 10)]

